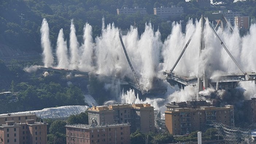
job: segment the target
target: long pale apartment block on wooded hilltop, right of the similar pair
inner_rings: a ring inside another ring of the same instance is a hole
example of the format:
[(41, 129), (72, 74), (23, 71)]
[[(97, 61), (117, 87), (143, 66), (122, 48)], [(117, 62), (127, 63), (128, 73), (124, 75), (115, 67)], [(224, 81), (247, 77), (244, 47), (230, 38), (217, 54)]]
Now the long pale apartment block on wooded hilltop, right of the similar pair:
[(183, 13), (183, 7), (163, 7), (154, 8), (154, 15), (158, 15), (162, 19), (168, 19), (173, 16), (180, 16)]

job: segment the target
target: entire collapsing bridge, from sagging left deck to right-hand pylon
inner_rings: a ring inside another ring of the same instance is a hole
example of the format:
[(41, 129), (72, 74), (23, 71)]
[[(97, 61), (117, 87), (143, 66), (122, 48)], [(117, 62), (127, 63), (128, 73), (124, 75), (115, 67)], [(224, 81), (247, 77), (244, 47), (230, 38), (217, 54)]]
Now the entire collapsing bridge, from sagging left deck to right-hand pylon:
[[(222, 16), (221, 19), (225, 20), (226, 23), (230, 26), (230, 29), (233, 30), (231, 24), (228, 23), (228, 21), (226, 20), (226, 18), (224, 16)], [(199, 57), (200, 57), (200, 55), (202, 55), (202, 51), (205, 49), (205, 44), (204, 44), (204, 40), (203, 40), (203, 29), (204, 29), (205, 22), (206, 22), (206, 18), (201, 16), (201, 39), (200, 39), (200, 47), (199, 47), (199, 51), (200, 51)], [(220, 21), (218, 22), (218, 24), (219, 23), (220, 23)], [(218, 26), (218, 24), (217, 24), (217, 26)], [(232, 58), (233, 62), (236, 64), (236, 66), (239, 68), (239, 70), (241, 72), (239, 72), (239, 73), (220, 73), (218, 75), (215, 75), (214, 77), (209, 77), (208, 74), (205, 73), (206, 67), (204, 66), (204, 69), (198, 70), (198, 73), (203, 73), (203, 75), (194, 75), (191, 77), (186, 77), (186, 76), (179, 75), (178, 73), (175, 73), (174, 69), (177, 66), (182, 55), (184, 54), (186, 48), (189, 46), (189, 43), (195, 33), (195, 31), (194, 31), (193, 34), (191, 35), (190, 39), (186, 43), (185, 47), (183, 48), (181, 54), (179, 55), (177, 61), (174, 63), (174, 66), (172, 67), (172, 69), (170, 71), (165, 71), (163, 73), (164, 75), (166, 75), (166, 79), (168, 82), (178, 83), (179, 85), (182, 85), (182, 86), (189, 86), (189, 85), (197, 86), (198, 93), (199, 93), (200, 91), (205, 90), (207, 87), (214, 87), (216, 90), (218, 90), (218, 89), (226, 89), (226, 87), (230, 87), (230, 85), (232, 88), (234, 88), (237, 85), (237, 83), (241, 82), (241, 81), (255, 81), (256, 73), (255, 72), (245, 72), (241, 69), (240, 65), (237, 63), (237, 61), (234, 59), (232, 54), (229, 52), (225, 43), (218, 36), (218, 34), (216, 32), (217, 26), (215, 28), (213, 28), (213, 26), (210, 24), (210, 28), (212, 29), (214, 35), (220, 40), (222, 47), (228, 53), (229, 57)], [(134, 89), (139, 90), (142, 94), (165, 93), (167, 91), (167, 87), (164, 87), (163, 85), (159, 84), (160, 83), (159, 81), (162, 82), (162, 80), (159, 78), (156, 78), (156, 80), (154, 80), (154, 82), (152, 82), (155, 87), (152, 87), (151, 90), (143, 89), (143, 87), (140, 84), (139, 78), (137, 77), (137, 74), (136, 74), (136, 72), (132, 66), (132, 63), (129, 59), (128, 53), (126, 51), (126, 48), (125, 48), (125, 45), (123, 43), (123, 39), (122, 39), (120, 33), (119, 33), (119, 38), (120, 38), (120, 42), (123, 47), (127, 62), (133, 72), (134, 82), (124, 81), (124, 80), (121, 80), (116, 77), (108, 77), (108, 76), (99, 75), (99, 74), (95, 74), (95, 75), (97, 77), (103, 78), (105, 82), (109, 82), (109, 83), (114, 82), (119, 85), (129, 85), (129, 86), (133, 87)], [(201, 65), (200, 59), (199, 59), (199, 65)], [(78, 71), (78, 70), (58, 69), (58, 68), (43, 67), (43, 66), (38, 66), (38, 68), (42, 69), (42, 70), (46, 70), (46, 71), (59, 71), (59, 72), (66, 72), (66, 73), (71, 73), (71, 74), (85, 75), (85, 76), (89, 77), (89, 72), (83, 72), (83, 71)], [(197, 99), (198, 99), (198, 97), (197, 97)]]

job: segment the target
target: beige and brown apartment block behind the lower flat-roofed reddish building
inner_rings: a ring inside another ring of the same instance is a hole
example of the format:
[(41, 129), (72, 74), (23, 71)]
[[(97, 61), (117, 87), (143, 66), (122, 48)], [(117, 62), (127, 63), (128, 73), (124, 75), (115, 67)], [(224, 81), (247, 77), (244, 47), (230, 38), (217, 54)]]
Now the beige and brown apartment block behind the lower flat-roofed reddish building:
[(131, 132), (154, 131), (154, 107), (150, 104), (93, 106), (88, 109), (89, 125), (131, 124)]

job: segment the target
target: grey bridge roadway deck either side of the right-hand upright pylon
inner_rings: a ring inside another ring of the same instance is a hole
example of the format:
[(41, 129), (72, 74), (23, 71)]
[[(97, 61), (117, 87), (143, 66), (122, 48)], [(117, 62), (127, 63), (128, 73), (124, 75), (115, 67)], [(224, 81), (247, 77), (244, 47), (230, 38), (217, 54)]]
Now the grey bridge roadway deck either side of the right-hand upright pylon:
[[(210, 77), (209, 83), (212, 86), (216, 85), (216, 89), (218, 89), (218, 85), (221, 83), (255, 81), (256, 72), (247, 72), (247, 74), (251, 77), (250, 79), (247, 77), (247, 75), (244, 75), (243, 73), (221, 73), (220, 75), (214, 75), (213, 77)], [(166, 79), (167, 81), (175, 81), (184, 86), (197, 85), (196, 75), (193, 75), (190, 77), (184, 77), (172, 72), (170, 75), (166, 77)]]

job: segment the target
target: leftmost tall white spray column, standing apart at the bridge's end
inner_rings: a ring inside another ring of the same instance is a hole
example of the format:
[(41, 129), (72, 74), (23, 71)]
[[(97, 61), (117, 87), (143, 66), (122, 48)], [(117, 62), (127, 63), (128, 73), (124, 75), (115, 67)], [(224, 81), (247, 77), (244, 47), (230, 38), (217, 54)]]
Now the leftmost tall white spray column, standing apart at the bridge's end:
[(46, 19), (43, 19), (41, 32), (41, 45), (43, 48), (43, 63), (45, 67), (53, 66), (53, 54), (51, 50), (51, 42), (49, 39), (49, 26)]

